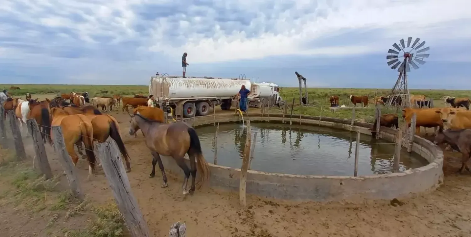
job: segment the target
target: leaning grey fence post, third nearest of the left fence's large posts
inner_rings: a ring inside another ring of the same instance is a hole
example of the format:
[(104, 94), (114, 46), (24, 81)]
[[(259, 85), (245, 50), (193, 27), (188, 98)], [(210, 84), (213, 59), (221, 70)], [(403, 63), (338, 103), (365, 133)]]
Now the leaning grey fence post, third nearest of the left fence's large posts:
[(46, 148), (44, 147), (41, 131), (39, 130), (36, 119), (26, 120), (26, 126), (28, 126), (28, 130), (31, 130), (32, 143), (34, 146), (34, 152), (36, 154), (35, 164), (41, 171), (41, 174), (44, 174), (46, 179), (50, 179), (52, 178), (52, 171), (51, 167), (49, 166), (48, 155), (46, 153)]

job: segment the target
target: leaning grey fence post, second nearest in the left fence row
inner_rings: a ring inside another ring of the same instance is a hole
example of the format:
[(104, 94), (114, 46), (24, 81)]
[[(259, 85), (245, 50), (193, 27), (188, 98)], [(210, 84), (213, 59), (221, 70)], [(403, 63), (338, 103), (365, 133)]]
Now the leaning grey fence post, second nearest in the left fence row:
[(67, 150), (65, 150), (65, 142), (64, 142), (64, 136), (62, 135), (61, 126), (53, 126), (52, 134), (54, 134), (53, 135), (54, 144), (60, 156), (59, 162), (64, 168), (64, 172), (65, 172), (65, 175), (67, 176), (67, 181), (69, 182), (70, 189), (72, 190), (72, 194), (75, 198), (78, 198), (79, 200), (84, 200), (85, 193), (83, 193), (80, 187), (80, 183), (77, 177), (75, 166), (73, 166), (73, 163), (72, 163), (72, 158), (70, 158), (69, 153), (67, 152)]

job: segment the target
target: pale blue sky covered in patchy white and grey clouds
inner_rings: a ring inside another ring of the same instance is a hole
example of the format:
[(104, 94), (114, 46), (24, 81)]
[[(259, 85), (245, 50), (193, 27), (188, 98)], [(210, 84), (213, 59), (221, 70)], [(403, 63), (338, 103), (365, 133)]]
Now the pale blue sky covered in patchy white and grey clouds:
[(430, 47), (410, 88), (471, 89), (469, 0), (1, 0), (0, 84), (148, 85), (156, 72), (390, 88), (392, 44)]

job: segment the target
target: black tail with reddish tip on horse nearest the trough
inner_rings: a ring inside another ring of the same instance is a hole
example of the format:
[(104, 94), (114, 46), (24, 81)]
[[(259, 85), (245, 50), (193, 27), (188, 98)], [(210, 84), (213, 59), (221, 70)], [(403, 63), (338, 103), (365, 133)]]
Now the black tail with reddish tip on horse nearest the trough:
[(199, 189), (205, 182), (209, 181), (210, 170), (208, 163), (204, 159), (203, 152), (201, 151), (200, 139), (198, 138), (198, 134), (196, 134), (195, 129), (193, 127), (188, 127), (188, 134), (190, 135), (190, 148), (188, 151), (191, 150), (194, 153), (198, 166), (197, 170), (201, 172), (196, 183), (196, 186)]

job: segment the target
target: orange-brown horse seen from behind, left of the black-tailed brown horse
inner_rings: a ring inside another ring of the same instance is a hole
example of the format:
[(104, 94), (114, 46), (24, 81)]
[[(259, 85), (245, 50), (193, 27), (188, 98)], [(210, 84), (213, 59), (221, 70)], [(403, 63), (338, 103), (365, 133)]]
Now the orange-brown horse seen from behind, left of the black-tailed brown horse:
[[(52, 108), (52, 126), (61, 126), (62, 134), (64, 136), (65, 148), (72, 158), (73, 165), (76, 166), (79, 157), (73, 150), (73, 145), (77, 145), (81, 148), (80, 143), (83, 142), (85, 145), (85, 153), (87, 154), (87, 161), (89, 163), (89, 175), (87, 177), (90, 180), (92, 175), (95, 175), (95, 163), (97, 158), (93, 153), (93, 126), (91, 121), (85, 115), (74, 114), (68, 115), (63, 109)], [(52, 134), (51, 134), (52, 135)], [(50, 141), (52, 144), (52, 141)], [(81, 150), (78, 149), (81, 156)]]

